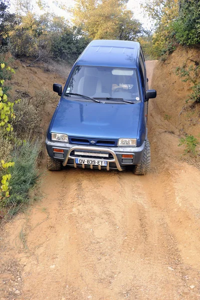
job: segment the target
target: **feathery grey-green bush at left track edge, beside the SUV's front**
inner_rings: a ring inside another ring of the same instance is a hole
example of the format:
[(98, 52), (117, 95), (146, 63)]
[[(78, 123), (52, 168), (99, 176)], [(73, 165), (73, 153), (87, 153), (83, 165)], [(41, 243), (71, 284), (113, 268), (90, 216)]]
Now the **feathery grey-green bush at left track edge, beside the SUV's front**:
[(16, 146), (12, 154), (15, 165), (10, 169), (10, 197), (1, 201), (1, 206), (9, 209), (12, 207), (12, 213), (30, 201), (30, 190), (40, 177), (38, 167), (40, 152), (41, 142), (28, 140)]

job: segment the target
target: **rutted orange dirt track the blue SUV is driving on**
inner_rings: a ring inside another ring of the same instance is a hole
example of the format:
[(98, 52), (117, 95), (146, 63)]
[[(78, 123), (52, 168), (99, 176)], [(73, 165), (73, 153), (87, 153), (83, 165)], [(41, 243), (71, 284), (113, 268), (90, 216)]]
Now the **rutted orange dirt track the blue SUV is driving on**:
[(46, 172), (43, 199), (3, 228), (1, 300), (200, 299), (200, 172), (179, 160), (161, 100), (150, 174)]

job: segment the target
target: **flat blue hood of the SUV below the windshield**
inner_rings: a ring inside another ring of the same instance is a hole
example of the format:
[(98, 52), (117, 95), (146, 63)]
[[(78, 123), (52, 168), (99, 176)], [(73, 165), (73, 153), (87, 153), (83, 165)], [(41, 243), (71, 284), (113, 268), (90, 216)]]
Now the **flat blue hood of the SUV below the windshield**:
[(141, 104), (94, 103), (62, 98), (51, 131), (91, 138), (136, 138)]

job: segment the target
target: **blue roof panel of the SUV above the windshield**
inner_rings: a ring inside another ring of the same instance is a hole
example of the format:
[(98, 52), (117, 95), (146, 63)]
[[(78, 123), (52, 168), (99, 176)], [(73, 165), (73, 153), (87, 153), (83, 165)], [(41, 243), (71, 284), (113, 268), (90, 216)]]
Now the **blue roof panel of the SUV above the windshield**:
[(137, 67), (139, 42), (128, 40), (92, 40), (78, 58), (77, 65)]

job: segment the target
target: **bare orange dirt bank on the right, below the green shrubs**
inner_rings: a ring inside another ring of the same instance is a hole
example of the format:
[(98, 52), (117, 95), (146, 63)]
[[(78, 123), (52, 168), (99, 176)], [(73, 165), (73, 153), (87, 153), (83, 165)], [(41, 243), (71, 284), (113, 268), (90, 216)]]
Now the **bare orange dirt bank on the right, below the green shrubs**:
[[(168, 123), (169, 130), (173, 130), (170, 124), (179, 130), (179, 133), (187, 133), (198, 136), (200, 132), (200, 104), (195, 106), (185, 100), (192, 92), (191, 82), (183, 82), (175, 74), (176, 67), (186, 65), (196, 66), (200, 64), (200, 49), (178, 47), (170, 54), (166, 61), (158, 62), (154, 74), (153, 83), (159, 100), (156, 102), (155, 109), (162, 116), (163, 122)], [(200, 77), (199, 77), (200, 80)], [(199, 138), (199, 136), (198, 136)]]

